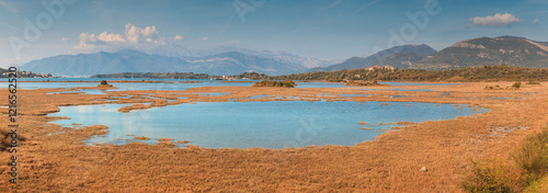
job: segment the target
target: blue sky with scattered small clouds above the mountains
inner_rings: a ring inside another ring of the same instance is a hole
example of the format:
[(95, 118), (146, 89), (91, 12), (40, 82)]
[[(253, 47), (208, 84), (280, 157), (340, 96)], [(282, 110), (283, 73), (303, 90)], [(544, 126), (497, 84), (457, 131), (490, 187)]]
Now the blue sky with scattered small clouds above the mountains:
[(476, 37), (548, 42), (548, 0), (0, 0), (0, 67), (219, 46), (346, 59)]

